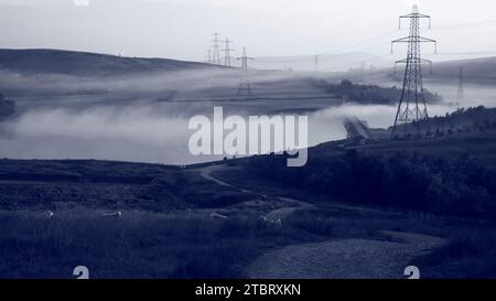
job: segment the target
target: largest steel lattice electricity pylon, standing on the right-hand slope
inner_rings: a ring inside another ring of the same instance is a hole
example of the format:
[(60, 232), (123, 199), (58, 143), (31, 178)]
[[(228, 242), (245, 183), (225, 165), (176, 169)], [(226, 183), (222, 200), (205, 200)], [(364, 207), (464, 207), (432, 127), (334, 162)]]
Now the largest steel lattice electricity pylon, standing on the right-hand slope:
[[(410, 122), (417, 123), (417, 135), (420, 136), (420, 122), (429, 117), (422, 82), (422, 63), (431, 63), (430, 61), (420, 57), (420, 44), (423, 42), (432, 42), (435, 45), (435, 52), (438, 49), (435, 40), (420, 36), (420, 20), (429, 19), (430, 28), (431, 17), (419, 13), (418, 7), (413, 6), (411, 13), (400, 17), (400, 28), (402, 19), (410, 19), (410, 34), (407, 37), (391, 42), (391, 52), (395, 43), (408, 43), (407, 58), (396, 62), (405, 63), (407, 66), (405, 68), (401, 99), (398, 105), (395, 125), (392, 127), (392, 138), (395, 137), (398, 126)], [(407, 126), (403, 127), (403, 130), (406, 135)]]

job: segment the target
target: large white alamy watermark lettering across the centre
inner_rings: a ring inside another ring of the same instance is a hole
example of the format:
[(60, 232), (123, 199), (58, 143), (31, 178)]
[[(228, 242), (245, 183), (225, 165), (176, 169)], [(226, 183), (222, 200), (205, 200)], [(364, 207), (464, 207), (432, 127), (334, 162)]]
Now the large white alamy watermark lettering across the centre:
[(224, 116), (214, 107), (214, 116), (190, 119), (195, 132), (188, 142), (193, 155), (255, 155), (287, 152), (288, 166), (303, 166), (308, 161), (309, 118), (303, 115)]

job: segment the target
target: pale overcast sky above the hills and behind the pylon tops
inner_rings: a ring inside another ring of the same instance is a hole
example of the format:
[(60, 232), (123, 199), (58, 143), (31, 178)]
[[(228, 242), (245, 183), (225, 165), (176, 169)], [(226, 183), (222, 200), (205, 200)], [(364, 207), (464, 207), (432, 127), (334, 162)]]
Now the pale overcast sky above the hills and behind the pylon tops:
[(494, 0), (0, 0), (0, 47), (200, 61), (218, 31), (254, 56), (384, 55), (413, 3), (440, 52), (496, 51)]

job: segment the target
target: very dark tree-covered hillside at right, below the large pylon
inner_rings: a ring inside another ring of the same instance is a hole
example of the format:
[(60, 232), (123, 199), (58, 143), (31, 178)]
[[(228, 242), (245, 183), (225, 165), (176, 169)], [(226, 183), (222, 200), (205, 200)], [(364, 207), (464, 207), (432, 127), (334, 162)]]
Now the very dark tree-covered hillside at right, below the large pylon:
[(344, 142), (311, 148), (306, 165), (299, 169), (288, 168), (284, 155), (250, 157), (239, 161), (242, 169), (229, 179), (256, 176), (349, 204), (495, 221), (496, 131), (359, 146)]

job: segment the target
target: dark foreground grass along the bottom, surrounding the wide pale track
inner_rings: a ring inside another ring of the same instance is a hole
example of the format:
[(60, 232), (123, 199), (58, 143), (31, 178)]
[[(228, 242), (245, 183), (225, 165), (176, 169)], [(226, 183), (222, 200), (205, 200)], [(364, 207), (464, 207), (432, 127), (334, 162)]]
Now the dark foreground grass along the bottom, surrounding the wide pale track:
[(265, 251), (330, 239), (395, 239), (385, 230), (444, 237), (448, 244), (416, 258), (424, 278), (492, 278), (496, 229), (409, 212), (319, 207), (300, 209), (282, 226), (258, 216), (216, 221), (207, 214), (95, 211), (0, 212), (1, 278), (244, 278)]

